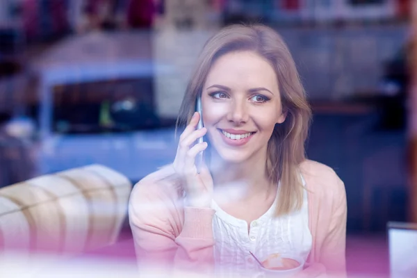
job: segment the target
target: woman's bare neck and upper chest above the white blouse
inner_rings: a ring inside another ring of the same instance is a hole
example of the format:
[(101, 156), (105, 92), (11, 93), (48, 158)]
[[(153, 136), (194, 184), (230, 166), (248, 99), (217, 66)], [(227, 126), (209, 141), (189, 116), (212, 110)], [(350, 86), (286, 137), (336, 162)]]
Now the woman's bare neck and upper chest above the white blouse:
[(215, 187), (237, 184), (239, 199), (252, 197), (270, 197), (275, 192), (277, 185), (272, 184), (266, 172), (267, 152), (260, 150), (254, 156), (243, 163), (230, 163), (224, 161), (214, 149), (211, 149), (211, 164), (209, 165)]

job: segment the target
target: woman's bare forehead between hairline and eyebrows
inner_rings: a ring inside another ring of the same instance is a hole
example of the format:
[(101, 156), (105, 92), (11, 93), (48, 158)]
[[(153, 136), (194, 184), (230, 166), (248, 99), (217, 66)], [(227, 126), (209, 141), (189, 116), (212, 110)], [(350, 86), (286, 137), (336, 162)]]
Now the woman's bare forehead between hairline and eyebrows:
[(231, 52), (215, 60), (206, 79), (207, 86), (213, 84), (278, 89), (275, 70), (268, 60), (253, 51)]

